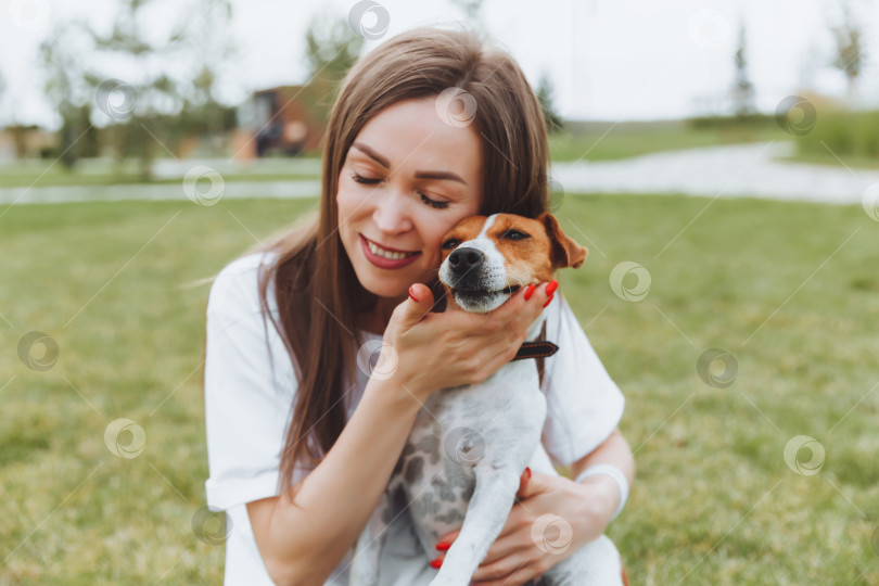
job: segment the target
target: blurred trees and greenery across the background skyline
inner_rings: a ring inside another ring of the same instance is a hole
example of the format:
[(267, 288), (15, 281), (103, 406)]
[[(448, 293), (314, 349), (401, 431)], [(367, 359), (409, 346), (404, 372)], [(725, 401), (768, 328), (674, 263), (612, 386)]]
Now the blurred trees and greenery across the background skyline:
[[(72, 173), (80, 158), (112, 157), (119, 181), (128, 182), (126, 160), (138, 161), (139, 181), (152, 181), (156, 158), (319, 156), (319, 136), (291, 143), (283, 138), (290, 128), (279, 120), (290, 124), (291, 114), (284, 109), (293, 103), (298, 106), (293, 116), (307, 122), (308, 133), (320, 133), (341, 80), (364, 51), (364, 38), (345, 17), (330, 8), (311, 16), (305, 35), (307, 75), (302, 84), (264, 95), (264, 104), (256, 103), (259, 92), (244, 103), (226, 103), (219, 80), (239, 50), (229, 40), (233, 38), (229, 34), (234, 16), (231, 1), (190, 0), (161, 39), (144, 25), (144, 12), (154, 3), (119, 0), (112, 27), (100, 34), (84, 20), (55, 25), (40, 46), (39, 74), (60, 125), (52, 130), (14, 120), (8, 124), (3, 133), (15, 157), (60, 161)], [(453, 4), (480, 25), (482, 0)], [(856, 166), (879, 167), (879, 113), (858, 110), (852, 101), (871, 56), (865, 34), (868, 21), (850, 1), (840, 3), (835, 14), (826, 24), (833, 39), (833, 52), (826, 61), (844, 74), (849, 89), (843, 99), (803, 92), (801, 104), (817, 114), (814, 131), (785, 132), (786, 122), (779, 116), (802, 116), (795, 109), (756, 110), (750, 74), (754, 55), (742, 22), (730, 54), (726, 99), (712, 115), (626, 122), (615, 130), (619, 137), (606, 137), (610, 124), (565, 120), (556, 106), (550, 77), (542, 73), (533, 87), (547, 120), (553, 160), (603, 160), (655, 150), (790, 140), (798, 149), (794, 158), (804, 162), (838, 165), (843, 157)], [(0, 103), (11, 91), (3, 79), (0, 71)], [(43, 138), (35, 141), (38, 133)], [(611, 143), (594, 149), (603, 140)], [(259, 143), (256, 154), (251, 152), (254, 143)]]

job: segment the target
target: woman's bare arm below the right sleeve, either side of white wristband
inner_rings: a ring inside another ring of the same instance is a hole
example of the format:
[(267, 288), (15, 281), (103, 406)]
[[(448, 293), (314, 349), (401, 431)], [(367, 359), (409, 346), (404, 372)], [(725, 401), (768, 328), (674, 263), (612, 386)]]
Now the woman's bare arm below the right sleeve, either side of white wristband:
[[(584, 470), (598, 463), (608, 463), (619, 468), (629, 486), (635, 480), (635, 458), (628, 447), (628, 442), (620, 433), (619, 428), (613, 430), (610, 436), (591, 453), (571, 464), (571, 480), (576, 480)], [(595, 533), (595, 537), (598, 537), (604, 533), (604, 528), (620, 506), (620, 487), (616, 481), (607, 474), (587, 476), (579, 482), (578, 486), (582, 487), (584, 504), (588, 504), (591, 511), (589, 533)]]

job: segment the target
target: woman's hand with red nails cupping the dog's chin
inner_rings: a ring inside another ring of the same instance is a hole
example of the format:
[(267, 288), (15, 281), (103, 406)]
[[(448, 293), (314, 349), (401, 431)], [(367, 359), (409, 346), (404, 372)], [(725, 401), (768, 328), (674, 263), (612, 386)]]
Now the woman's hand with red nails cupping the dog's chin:
[(528, 326), (553, 293), (547, 295), (546, 284), (540, 284), (526, 301), (528, 289), (487, 314), (434, 314), (430, 288), (412, 285), (384, 331), (381, 359), (394, 365), (391, 378), (420, 402), (437, 388), (484, 381), (515, 356)]

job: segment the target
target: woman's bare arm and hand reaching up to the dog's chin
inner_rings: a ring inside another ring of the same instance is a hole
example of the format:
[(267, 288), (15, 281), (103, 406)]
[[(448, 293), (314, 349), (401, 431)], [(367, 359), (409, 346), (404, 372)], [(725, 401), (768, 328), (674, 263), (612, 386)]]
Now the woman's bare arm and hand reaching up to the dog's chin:
[[(429, 314), (431, 290), (394, 309), (382, 353), (393, 377), (370, 378), (360, 403), (322, 461), (288, 494), (247, 504), (256, 545), (278, 584), (322, 585), (354, 545), (384, 493), (418, 411), (445, 386), (484, 381), (515, 354), (548, 294), (524, 290), (491, 314)], [(425, 317), (426, 316), (426, 317)], [(437, 352), (442, 348), (442, 352)]]

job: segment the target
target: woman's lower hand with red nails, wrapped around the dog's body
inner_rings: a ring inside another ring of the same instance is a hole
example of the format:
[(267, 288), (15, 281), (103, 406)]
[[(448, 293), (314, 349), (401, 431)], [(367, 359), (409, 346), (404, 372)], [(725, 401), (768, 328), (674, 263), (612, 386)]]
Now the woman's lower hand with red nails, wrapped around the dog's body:
[[(471, 584), (525, 584), (603, 533), (607, 507), (593, 504), (586, 486), (539, 472), (528, 480), (528, 474), (522, 474), (517, 502)], [(459, 533), (449, 533), (441, 543), (454, 544)], [(445, 544), (442, 549), (448, 549)]]

